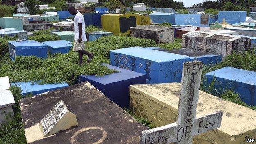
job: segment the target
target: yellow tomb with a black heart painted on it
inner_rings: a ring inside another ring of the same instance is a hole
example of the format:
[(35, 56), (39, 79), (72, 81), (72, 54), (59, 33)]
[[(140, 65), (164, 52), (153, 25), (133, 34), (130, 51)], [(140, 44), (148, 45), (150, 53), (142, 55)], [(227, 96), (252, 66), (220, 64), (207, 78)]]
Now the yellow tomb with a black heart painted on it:
[(104, 30), (117, 35), (130, 34), (130, 27), (149, 25), (149, 16), (138, 14), (104, 14), (101, 15), (101, 24)]

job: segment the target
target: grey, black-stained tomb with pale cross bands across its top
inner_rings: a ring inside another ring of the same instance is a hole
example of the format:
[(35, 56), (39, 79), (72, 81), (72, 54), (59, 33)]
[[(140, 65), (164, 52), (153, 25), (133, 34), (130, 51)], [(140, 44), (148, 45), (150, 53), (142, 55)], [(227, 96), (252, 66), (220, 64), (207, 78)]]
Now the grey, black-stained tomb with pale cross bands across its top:
[(251, 40), (228, 34), (212, 34), (209, 32), (189, 32), (182, 35), (182, 48), (214, 53), (218, 55), (229, 55), (231, 53), (248, 50)]

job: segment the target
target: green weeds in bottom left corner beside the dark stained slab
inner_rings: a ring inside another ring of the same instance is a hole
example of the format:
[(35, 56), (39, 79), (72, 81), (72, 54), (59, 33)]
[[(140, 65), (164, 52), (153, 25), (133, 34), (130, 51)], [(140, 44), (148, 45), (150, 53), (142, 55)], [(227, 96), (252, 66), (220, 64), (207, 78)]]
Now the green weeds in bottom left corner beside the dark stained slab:
[(22, 98), (21, 89), (11, 86), (11, 93), (14, 96), (13, 116), (11, 113), (6, 115), (7, 123), (0, 126), (0, 144), (26, 144), (26, 137), (21, 119), (21, 110), (18, 100)]

